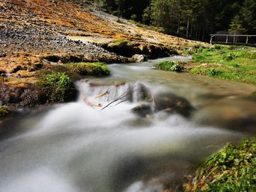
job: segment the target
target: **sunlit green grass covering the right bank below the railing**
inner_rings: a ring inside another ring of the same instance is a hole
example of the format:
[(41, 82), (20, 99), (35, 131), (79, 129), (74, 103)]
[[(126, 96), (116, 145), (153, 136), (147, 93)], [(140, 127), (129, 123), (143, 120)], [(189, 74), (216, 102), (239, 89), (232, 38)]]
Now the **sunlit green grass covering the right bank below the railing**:
[(192, 74), (256, 84), (255, 48), (224, 45), (198, 48), (193, 55), (193, 62), (203, 65), (190, 70)]

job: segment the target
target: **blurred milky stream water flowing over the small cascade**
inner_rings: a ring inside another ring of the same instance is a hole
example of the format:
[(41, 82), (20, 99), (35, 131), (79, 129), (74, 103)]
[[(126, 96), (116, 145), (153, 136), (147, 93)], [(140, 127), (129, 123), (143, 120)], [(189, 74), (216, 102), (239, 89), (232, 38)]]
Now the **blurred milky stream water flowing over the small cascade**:
[[(110, 77), (77, 83), (78, 101), (1, 123), (12, 131), (1, 137), (0, 191), (181, 191), (203, 158), (255, 135), (253, 85), (151, 69), (156, 63), (112, 64)], [(165, 109), (160, 93), (190, 104), (189, 115)], [(146, 104), (146, 115), (132, 112)]]

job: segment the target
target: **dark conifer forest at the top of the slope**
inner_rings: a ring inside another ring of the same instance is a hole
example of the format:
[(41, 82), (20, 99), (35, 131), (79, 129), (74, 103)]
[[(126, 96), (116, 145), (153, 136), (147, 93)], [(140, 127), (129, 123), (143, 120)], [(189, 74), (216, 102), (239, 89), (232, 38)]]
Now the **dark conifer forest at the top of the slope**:
[(205, 40), (207, 34), (256, 34), (255, 0), (91, 0), (107, 12), (162, 28), (165, 34)]

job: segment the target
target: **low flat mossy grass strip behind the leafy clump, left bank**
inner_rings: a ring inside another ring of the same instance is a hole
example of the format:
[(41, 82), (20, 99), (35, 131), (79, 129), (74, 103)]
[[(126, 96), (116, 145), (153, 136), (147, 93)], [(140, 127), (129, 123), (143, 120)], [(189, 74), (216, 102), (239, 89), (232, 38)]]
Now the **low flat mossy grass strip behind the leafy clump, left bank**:
[(110, 70), (104, 63), (77, 63), (67, 64), (69, 72), (79, 75), (109, 75)]

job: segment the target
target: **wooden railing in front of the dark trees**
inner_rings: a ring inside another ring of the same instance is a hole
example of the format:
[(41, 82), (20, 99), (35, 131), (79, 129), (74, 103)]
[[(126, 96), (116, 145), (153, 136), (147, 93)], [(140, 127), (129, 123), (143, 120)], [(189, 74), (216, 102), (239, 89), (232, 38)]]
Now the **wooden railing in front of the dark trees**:
[[(211, 36), (210, 43), (256, 44), (256, 41), (249, 42), (249, 39), (252, 39), (252, 37), (256, 37), (256, 35), (241, 35), (241, 34), (209, 34), (209, 35)], [(215, 37), (215, 41), (213, 40), (214, 37)], [(219, 37), (219, 40), (217, 40), (216, 37)], [(241, 37), (243, 37), (244, 42), (241, 41)]]

